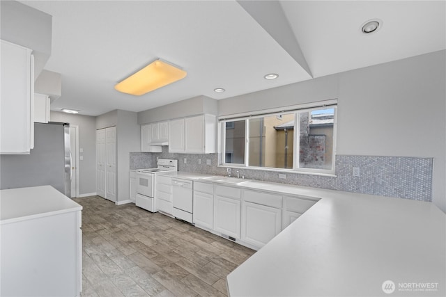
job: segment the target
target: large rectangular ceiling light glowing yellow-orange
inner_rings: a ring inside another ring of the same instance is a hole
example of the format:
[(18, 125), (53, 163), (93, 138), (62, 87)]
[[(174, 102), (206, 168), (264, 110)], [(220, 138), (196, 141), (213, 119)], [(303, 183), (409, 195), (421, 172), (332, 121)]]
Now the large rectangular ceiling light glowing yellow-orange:
[(116, 84), (114, 88), (122, 93), (139, 96), (184, 79), (186, 75), (184, 70), (158, 59)]

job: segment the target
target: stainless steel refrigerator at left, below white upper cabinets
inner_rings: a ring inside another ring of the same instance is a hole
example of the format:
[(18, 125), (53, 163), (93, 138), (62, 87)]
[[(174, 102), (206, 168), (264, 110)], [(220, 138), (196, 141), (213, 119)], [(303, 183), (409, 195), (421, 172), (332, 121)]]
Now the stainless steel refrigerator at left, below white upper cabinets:
[(70, 124), (36, 122), (30, 154), (0, 155), (0, 189), (50, 185), (71, 197), (70, 156)]

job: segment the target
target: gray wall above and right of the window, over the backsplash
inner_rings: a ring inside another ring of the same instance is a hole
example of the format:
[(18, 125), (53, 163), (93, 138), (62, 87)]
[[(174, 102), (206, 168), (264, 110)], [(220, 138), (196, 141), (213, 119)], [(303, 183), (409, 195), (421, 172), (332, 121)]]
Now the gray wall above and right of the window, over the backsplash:
[(432, 201), (446, 211), (445, 64), (437, 51), (223, 99), (219, 115), (338, 98), (337, 154), (433, 157)]

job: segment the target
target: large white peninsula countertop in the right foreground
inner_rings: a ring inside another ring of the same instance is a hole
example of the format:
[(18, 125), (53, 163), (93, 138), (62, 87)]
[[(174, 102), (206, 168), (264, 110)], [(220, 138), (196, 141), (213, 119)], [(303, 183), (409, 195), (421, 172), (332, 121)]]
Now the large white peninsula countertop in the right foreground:
[[(446, 220), (438, 207), (315, 193), (319, 202), (228, 275), (230, 296), (445, 296)], [(382, 289), (387, 280), (396, 286), (391, 295)], [(435, 288), (407, 291), (414, 283)]]

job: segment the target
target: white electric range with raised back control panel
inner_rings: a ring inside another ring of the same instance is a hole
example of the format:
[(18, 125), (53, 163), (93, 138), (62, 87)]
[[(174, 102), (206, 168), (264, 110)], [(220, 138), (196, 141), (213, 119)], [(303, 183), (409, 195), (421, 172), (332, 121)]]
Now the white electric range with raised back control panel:
[(155, 175), (167, 171), (178, 171), (178, 160), (158, 159), (157, 168), (137, 169), (137, 197), (135, 204), (155, 212)]

